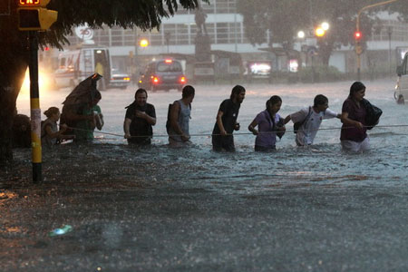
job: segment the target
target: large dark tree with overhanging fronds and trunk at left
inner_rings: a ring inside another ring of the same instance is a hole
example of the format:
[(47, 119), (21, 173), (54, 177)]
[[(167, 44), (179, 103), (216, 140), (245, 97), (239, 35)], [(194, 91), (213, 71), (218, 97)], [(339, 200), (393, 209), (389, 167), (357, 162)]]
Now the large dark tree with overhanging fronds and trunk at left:
[[(10, 15), (0, 15), (0, 166), (13, 160), (15, 101), (29, 62), (28, 34), (17, 29), (17, 1), (10, 0), (10, 4)], [(47, 8), (58, 11), (58, 20), (49, 31), (39, 34), (39, 43), (61, 48), (67, 44), (64, 36), (72, 34), (73, 26), (84, 23), (91, 27), (137, 26), (142, 30), (159, 27), (161, 18), (174, 15), (179, 6), (194, 9), (198, 0), (52, 0)]]

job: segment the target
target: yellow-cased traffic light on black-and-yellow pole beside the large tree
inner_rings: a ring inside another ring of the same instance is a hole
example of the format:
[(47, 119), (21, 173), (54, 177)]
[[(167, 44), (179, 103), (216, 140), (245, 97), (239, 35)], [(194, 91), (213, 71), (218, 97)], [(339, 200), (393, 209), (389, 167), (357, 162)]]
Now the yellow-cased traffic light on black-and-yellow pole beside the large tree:
[(58, 12), (48, 10), (50, 0), (17, 0), (18, 29), (45, 31), (57, 20)]

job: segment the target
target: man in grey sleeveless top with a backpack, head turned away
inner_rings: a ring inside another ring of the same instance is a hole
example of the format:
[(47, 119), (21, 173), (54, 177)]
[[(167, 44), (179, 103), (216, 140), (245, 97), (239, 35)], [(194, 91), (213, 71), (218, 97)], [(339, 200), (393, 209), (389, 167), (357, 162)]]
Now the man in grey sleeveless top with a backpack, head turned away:
[(191, 118), (191, 102), (195, 90), (186, 85), (182, 90), (181, 99), (173, 102), (170, 107), (169, 143), (171, 147), (182, 147), (190, 144), (189, 119)]

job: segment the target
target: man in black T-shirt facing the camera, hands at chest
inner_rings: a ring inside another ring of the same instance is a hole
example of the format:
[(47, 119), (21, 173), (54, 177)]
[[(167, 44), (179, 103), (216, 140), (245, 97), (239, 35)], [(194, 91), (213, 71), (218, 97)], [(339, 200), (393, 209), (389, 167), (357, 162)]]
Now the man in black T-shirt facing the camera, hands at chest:
[(156, 111), (152, 104), (147, 103), (147, 97), (146, 90), (138, 89), (134, 94), (134, 102), (125, 108), (127, 111), (123, 131), (124, 138), (129, 144), (151, 144), (152, 126), (156, 124)]

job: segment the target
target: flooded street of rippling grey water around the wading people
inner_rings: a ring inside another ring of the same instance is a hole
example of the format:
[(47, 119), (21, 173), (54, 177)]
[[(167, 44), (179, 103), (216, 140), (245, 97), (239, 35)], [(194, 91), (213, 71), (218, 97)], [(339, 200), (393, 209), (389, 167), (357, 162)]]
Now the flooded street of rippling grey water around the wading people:
[[(394, 102), (393, 79), (364, 82), (384, 112), (369, 152), (341, 150), (337, 119), (322, 122), (311, 148), (296, 148), (289, 122), (274, 153), (254, 152), (247, 129), (271, 95), (283, 117), (319, 93), (341, 112), (351, 83), (244, 83), (233, 154), (211, 151), (209, 137), (232, 85), (195, 86), (189, 149), (165, 137), (180, 92), (149, 93), (157, 124), (146, 149), (122, 136), (135, 88), (102, 92), (111, 134), (44, 150), (39, 185), (30, 151), (15, 150), (14, 169), (2, 172), (0, 271), (406, 271), (408, 108)], [(40, 93), (42, 112), (69, 92)], [(27, 92), (17, 109), (29, 113)], [(48, 236), (64, 224), (72, 232)]]

